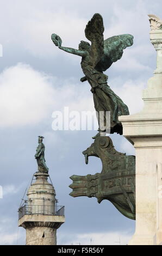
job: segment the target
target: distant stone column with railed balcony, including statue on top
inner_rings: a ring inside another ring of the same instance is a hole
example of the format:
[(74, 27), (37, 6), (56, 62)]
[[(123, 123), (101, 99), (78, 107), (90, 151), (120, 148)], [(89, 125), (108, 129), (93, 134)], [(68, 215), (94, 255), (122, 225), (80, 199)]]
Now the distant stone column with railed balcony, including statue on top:
[(47, 180), (42, 141), (38, 148), (38, 169), (45, 171), (41, 169), (34, 174), (36, 181), (28, 189), (28, 199), (18, 209), (18, 227), (26, 229), (26, 245), (56, 245), (57, 229), (65, 222), (64, 206), (58, 208), (54, 187)]

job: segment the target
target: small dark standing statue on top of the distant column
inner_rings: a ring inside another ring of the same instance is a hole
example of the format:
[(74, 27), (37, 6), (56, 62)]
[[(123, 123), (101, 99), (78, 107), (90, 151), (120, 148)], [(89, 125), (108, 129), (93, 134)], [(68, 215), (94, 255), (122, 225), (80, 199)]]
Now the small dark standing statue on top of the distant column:
[(35, 159), (38, 163), (38, 170), (39, 172), (48, 173), (48, 167), (46, 166), (45, 160), (45, 145), (42, 143), (43, 141), (42, 136), (38, 136), (38, 147), (36, 148)]

